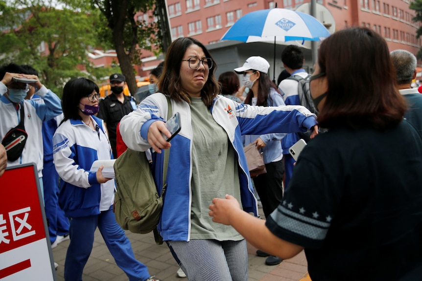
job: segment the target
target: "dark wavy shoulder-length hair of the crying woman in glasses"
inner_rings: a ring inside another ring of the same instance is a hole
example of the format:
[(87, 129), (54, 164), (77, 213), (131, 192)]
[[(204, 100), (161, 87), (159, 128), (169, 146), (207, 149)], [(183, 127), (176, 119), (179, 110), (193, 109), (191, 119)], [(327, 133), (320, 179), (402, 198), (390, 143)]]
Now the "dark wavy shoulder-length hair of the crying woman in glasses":
[[(205, 57), (212, 59), (210, 52), (198, 40), (191, 37), (178, 38), (170, 44), (164, 60), (163, 73), (158, 81), (158, 89), (175, 101), (190, 103), (188, 93), (181, 87), (180, 66), (183, 56), (190, 45), (198, 45), (205, 53)], [(212, 67), (208, 73), (208, 80), (201, 90), (201, 98), (207, 107), (212, 105), (214, 98), (220, 93), (220, 85), (214, 77), (217, 64), (212, 59)]]

